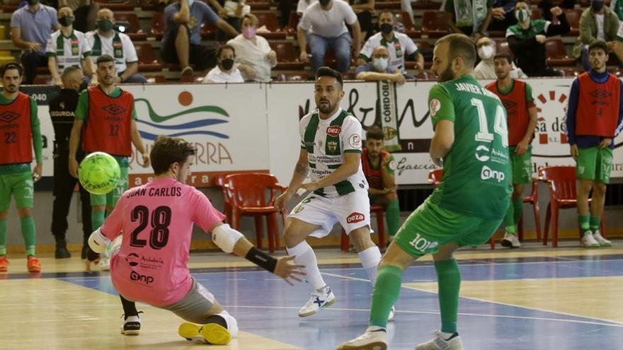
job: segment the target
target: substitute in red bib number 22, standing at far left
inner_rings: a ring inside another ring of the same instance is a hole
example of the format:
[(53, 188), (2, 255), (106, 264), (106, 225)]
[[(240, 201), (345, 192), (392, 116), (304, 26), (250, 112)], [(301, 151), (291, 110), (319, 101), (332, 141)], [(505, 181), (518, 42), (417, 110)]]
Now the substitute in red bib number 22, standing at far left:
[[(43, 141), (39, 129), (37, 103), (19, 91), (23, 70), (14, 62), (0, 69), (4, 90), (0, 94), (0, 272), (8, 270), (6, 259), (6, 216), (15, 197), (28, 272), (41, 272), (39, 259), (35, 257), (35, 219), (33, 218), (34, 182), (42, 174)], [(37, 165), (30, 172), (33, 148)]]

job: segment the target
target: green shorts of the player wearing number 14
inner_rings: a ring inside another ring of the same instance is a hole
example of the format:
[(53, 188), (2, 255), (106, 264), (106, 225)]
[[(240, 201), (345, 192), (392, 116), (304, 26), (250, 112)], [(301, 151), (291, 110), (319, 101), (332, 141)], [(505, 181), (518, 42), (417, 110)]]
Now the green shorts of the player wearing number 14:
[(459, 247), (486, 243), (503, 218), (478, 218), (443, 209), (428, 197), (406, 219), (394, 241), (408, 255), (418, 258), (435, 254), (439, 247), (454, 242)]

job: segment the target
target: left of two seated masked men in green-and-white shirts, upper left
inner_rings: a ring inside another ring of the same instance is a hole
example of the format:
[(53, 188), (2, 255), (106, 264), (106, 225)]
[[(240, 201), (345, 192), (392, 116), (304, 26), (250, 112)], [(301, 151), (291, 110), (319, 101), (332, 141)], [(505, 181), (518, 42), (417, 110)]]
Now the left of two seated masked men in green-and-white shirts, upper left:
[(91, 62), (91, 46), (88, 45), (84, 33), (74, 30), (74, 12), (67, 6), (59, 8), (58, 21), (61, 29), (50, 35), (45, 47), (47, 68), (54, 83), (63, 86), (61, 74), (70, 66), (81, 66), (84, 75), (91, 76), (93, 62)]

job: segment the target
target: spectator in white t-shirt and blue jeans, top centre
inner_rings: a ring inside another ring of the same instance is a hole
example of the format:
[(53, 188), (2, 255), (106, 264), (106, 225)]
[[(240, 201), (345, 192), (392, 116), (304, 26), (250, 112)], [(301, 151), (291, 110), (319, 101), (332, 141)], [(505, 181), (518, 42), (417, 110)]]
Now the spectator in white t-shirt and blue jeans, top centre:
[[(353, 29), (352, 38), (346, 24)], [(361, 28), (353, 8), (342, 0), (319, 0), (305, 10), (297, 32), (301, 62), (309, 61), (306, 49), (308, 31), (311, 74), (316, 74), (316, 69), (324, 65), (324, 55), (329, 47), (336, 55), (338, 71), (348, 71), (351, 42), (353, 56), (357, 57), (361, 49)]]

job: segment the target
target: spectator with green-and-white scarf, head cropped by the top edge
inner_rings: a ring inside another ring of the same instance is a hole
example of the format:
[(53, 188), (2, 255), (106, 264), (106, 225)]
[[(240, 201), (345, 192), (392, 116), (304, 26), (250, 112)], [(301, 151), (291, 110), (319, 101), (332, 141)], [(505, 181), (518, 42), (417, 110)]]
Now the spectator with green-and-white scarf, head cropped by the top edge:
[[(455, 4), (456, 3), (456, 4)], [(452, 33), (462, 33), (474, 38), (484, 37), (491, 22), (493, 0), (446, 0), (444, 11)]]

